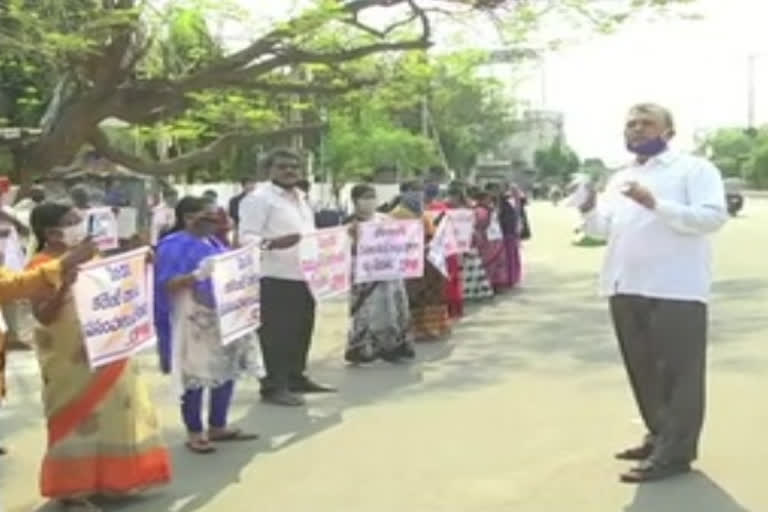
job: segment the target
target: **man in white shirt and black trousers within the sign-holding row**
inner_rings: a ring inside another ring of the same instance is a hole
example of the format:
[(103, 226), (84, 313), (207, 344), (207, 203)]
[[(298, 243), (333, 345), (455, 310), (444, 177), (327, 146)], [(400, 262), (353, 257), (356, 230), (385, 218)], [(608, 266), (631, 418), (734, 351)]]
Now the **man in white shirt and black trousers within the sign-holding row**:
[(333, 391), (306, 375), (315, 324), (315, 299), (299, 265), (301, 236), (315, 230), (314, 214), (296, 185), (301, 159), (276, 149), (265, 160), (271, 182), (240, 202), (240, 242), (262, 240), (261, 339), (267, 376), (262, 398), (277, 405), (303, 405), (299, 393)]

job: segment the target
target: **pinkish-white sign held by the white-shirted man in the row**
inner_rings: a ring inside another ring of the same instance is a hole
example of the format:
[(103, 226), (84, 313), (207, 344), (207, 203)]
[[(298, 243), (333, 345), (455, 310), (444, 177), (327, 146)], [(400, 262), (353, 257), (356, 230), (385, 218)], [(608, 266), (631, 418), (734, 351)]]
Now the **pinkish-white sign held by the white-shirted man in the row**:
[(303, 235), (299, 258), (315, 299), (328, 299), (349, 291), (352, 258), (346, 227)]

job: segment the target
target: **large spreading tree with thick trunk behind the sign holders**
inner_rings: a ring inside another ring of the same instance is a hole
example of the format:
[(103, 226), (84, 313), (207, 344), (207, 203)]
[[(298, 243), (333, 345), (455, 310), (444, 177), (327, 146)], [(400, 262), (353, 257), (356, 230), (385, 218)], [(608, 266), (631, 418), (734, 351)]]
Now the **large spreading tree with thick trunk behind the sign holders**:
[[(167, 41), (174, 9), (197, 10), (206, 22), (218, 17), (224, 25), (253, 24), (232, 7), (235, 3), (0, 0), (3, 58), (15, 59), (22, 69), (37, 67), (47, 86), (38, 96), (46, 106), (39, 120), (42, 134), (15, 147), (17, 165), (25, 175), (42, 174), (70, 164), (90, 145), (140, 172), (180, 172), (219, 158), (244, 137), (305, 130), (285, 121), (300, 117), (273, 105), (295, 103), (297, 96), (291, 95), (343, 93), (386, 79), (365, 65), (366, 59), (427, 49), (436, 16), (464, 19), (478, 11), (494, 12), (519, 35), (521, 26), (535, 25), (552, 9), (565, 8), (601, 26), (606, 20), (621, 21), (627, 12), (674, 2), (618, 0), (605, 10), (600, 0), (307, 0), (283, 21), (256, 23), (257, 35), (238, 49), (224, 44), (222, 51), (185, 54), (175, 71), (157, 65), (156, 45)], [(268, 104), (266, 114), (249, 108), (250, 115), (241, 115), (237, 105), (253, 94)], [(199, 111), (217, 115), (216, 129), (207, 132), (210, 140), (172, 158), (140, 158), (120, 149), (102, 128), (109, 119), (156, 127), (188, 121), (190, 113)], [(228, 119), (236, 122), (224, 122)]]

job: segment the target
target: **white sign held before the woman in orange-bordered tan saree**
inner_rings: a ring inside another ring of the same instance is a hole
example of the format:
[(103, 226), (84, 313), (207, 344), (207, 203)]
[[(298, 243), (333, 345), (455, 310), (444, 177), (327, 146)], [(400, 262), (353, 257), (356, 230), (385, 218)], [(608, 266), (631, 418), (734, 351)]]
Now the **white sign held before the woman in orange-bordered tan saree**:
[(73, 293), (91, 368), (155, 344), (148, 254), (137, 249), (80, 268)]

